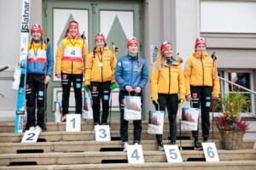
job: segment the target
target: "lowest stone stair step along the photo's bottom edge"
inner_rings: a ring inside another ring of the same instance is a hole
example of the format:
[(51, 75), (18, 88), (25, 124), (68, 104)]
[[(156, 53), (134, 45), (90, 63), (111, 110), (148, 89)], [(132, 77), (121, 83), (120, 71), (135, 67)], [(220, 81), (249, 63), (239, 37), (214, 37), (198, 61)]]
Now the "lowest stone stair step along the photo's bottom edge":
[[(171, 166), (172, 165), (172, 166)], [(146, 162), (143, 164), (128, 164), (128, 163), (114, 163), (114, 164), (78, 164), (78, 165), (38, 165), (38, 166), (12, 166), (0, 167), (1, 170), (73, 170), (73, 169), (147, 169), (147, 170), (227, 170), (227, 169), (256, 169), (255, 160), (244, 161), (219, 161), (219, 162), (206, 162), (206, 161), (185, 161), (182, 163), (167, 163), (167, 162)]]

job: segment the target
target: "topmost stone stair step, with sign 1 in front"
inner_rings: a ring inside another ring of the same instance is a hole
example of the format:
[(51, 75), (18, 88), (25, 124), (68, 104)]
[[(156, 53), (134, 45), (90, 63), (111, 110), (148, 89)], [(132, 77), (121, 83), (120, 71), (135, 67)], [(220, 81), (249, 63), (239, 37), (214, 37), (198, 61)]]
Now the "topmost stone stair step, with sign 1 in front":
[[(26, 124), (26, 123), (24, 123)], [(143, 129), (148, 129), (148, 121), (143, 121)], [(177, 122), (177, 126), (179, 122)], [(55, 131), (66, 131), (66, 122), (46, 122), (47, 132), (55, 132)], [(111, 122), (110, 125), (111, 130), (119, 130), (120, 129), (120, 122), (114, 121)], [(130, 126), (128, 126), (130, 130), (133, 129), (132, 122), (130, 122)], [(25, 125), (24, 128), (25, 129)], [(81, 131), (92, 131), (94, 129), (94, 125), (92, 121), (81, 122)], [(199, 129), (201, 129), (201, 122)], [(212, 125), (210, 127), (212, 130)], [(216, 127), (214, 127), (217, 130)], [(169, 130), (169, 122), (166, 121), (164, 123), (164, 130)], [(13, 133), (15, 132), (15, 122), (1, 122), (0, 123), (0, 133)]]

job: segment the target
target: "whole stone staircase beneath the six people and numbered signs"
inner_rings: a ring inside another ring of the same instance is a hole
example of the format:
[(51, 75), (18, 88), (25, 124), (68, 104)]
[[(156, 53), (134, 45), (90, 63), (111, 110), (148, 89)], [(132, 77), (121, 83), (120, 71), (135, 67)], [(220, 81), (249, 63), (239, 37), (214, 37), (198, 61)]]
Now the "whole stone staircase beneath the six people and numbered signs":
[[(40, 133), (37, 143), (20, 143), (23, 133), (14, 133), (14, 122), (0, 123), (0, 169), (177, 169), (177, 170), (253, 170), (256, 169), (256, 150), (253, 140), (243, 140), (241, 150), (224, 150), (217, 129), (209, 142), (218, 150), (219, 162), (207, 162), (202, 150), (193, 150), (191, 132), (177, 137), (182, 163), (168, 163), (165, 152), (156, 151), (154, 134), (147, 133), (148, 122), (143, 122), (142, 146), (145, 163), (129, 164), (119, 139), (119, 122), (111, 123), (111, 141), (96, 142), (92, 122), (81, 122), (81, 132), (65, 132), (66, 123), (46, 123), (47, 131)], [(201, 127), (201, 126), (200, 126)], [(129, 125), (132, 144), (133, 125)], [(169, 123), (165, 122), (164, 144), (168, 144)], [(212, 127), (211, 127), (212, 130)], [(179, 131), (177, 132), (179, 135)], [(201, 134), (201, 132), (200, 132)]]

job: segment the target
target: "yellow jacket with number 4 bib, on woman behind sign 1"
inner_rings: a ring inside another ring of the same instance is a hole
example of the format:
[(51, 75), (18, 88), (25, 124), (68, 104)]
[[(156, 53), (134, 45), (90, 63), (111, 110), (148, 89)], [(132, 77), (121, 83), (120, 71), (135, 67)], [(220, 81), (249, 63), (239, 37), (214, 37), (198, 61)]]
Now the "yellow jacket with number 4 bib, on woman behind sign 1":
[(61, 40), (56, 54), (55, 75), (63, 73), (81, 74), (85, 67), (85, 56), (88, 55), (87, 44), (77, 36), (68, 35)]

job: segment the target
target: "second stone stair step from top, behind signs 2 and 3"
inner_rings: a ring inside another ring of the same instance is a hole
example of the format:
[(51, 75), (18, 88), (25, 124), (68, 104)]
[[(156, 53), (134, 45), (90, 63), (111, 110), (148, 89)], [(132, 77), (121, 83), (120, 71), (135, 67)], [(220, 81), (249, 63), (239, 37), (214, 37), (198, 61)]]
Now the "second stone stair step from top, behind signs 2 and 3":
[[(129, 139), (133, 139), (133, 130), (128, 130)], [(201, 132), (200, 132), (201, 134)], [(0, 143), (4, 142), (20, 142), (23, 138), (24, 133), (0, 133)], [(179, 130), (177, 131), (177, 135), (179, 135)], [(111, 130), (110, 136), (112, 138), (120, 137), (118, 130)], [(163, 139), (167, 140), (170, 136), (169, 130), (165, 130), (163, 134)], [(182, 131), (182, 137), (187, 137), (190, 139), (191, 131)], [(217, 130), (213, 131), (213, 138), (220, 139), (220, 134)], [(81, 132), (42, 132), (39, 134), (38, 139), (43, 139), (47, 142), (57, 142), (57, 141), (89, 141), (96, 140), (94, 131), (81, 131)], [(143, 130), (142, 132), (142, 140), (146, 139), (155, 139), (154, 134), (149, 134), (147, 130)], [(179, 137), (177, 137), (179, 139)], [(200, 137), (201, 139), (201, 137)], [(209, 139), (212, 139), (212, 132), (210, 133)]]

